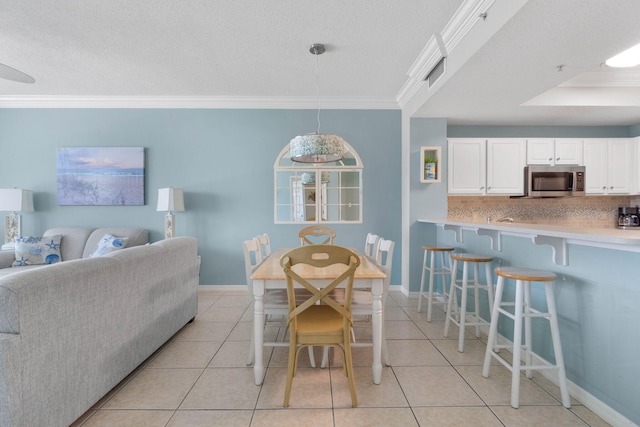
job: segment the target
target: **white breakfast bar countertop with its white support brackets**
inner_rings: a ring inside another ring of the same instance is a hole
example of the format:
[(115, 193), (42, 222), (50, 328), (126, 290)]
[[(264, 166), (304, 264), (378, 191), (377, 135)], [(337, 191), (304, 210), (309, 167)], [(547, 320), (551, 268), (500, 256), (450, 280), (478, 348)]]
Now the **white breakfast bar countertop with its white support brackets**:
[(448, 219), (423, 218), (418, 222), (431, 223), (456, 233), (456, 241), (462, 243), (463, 230), (473, 231), (491, 239), (491, 248), (501, 250), (501, 236), (511, 235), (531, 238), (535, 244), (547, 244), (553, 248), (553, 261), (567, 265), (567, 244), (596, 246), (623, 251), (640, 252), (640, 229), (586, 228), (564, 225), (526, 224), (508, 222), (463, 222)]

